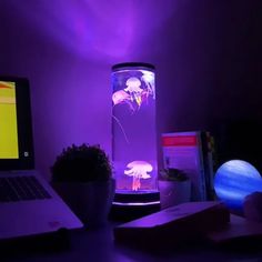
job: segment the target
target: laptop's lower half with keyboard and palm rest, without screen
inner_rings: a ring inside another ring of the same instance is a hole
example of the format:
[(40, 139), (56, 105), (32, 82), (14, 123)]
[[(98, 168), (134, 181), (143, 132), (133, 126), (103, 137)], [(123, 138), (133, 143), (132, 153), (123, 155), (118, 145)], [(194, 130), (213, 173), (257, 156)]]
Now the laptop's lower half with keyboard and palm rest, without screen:
[[(29, 185), (21, 182), (23, 180)], [(1, 172), (0, 191), (7, 191), (4, 187), (9, 190), (11, 187), (13, 191), (10, 195), (0, 193), (0, 240), (82, 226), (82, 222), (36, 171)]]

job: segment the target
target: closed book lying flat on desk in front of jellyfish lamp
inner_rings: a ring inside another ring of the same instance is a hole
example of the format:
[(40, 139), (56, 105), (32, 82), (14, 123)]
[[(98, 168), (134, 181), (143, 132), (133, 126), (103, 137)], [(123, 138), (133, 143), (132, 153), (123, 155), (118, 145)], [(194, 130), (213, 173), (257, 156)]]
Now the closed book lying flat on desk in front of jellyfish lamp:
[(220, 201), (188, 202), (114, 228), (114, 240), (135, 246), (160, 248), (199, 241), (230, 222), (230, 213)]

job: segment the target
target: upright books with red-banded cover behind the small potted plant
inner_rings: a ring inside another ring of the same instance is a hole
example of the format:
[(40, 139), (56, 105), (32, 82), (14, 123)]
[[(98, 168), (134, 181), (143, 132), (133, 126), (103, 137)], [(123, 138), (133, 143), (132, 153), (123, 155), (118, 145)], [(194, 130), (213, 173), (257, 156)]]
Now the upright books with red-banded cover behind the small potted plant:
[(162, 134), (164, 169), (184, 171), (191, 180), (191, 200), (214, 200), (214, 140), (210, 132)]

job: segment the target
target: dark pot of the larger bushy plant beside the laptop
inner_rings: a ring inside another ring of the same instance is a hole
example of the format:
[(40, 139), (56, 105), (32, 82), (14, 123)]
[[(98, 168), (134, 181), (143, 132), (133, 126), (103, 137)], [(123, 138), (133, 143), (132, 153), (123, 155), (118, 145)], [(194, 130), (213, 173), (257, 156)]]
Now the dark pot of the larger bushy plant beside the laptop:
[(53, 182), (53, 189), (87, 226), (107, 223), (115, 181)]

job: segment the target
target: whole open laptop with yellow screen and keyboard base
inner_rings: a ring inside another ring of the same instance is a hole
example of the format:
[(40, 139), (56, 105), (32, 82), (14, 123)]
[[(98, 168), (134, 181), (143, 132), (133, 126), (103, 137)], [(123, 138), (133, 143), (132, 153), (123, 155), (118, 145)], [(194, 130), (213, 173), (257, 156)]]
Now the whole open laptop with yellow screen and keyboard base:
[(26, 78), (0, 77), (0, 240), (83, 226), (34, 170), (29, 89)]

